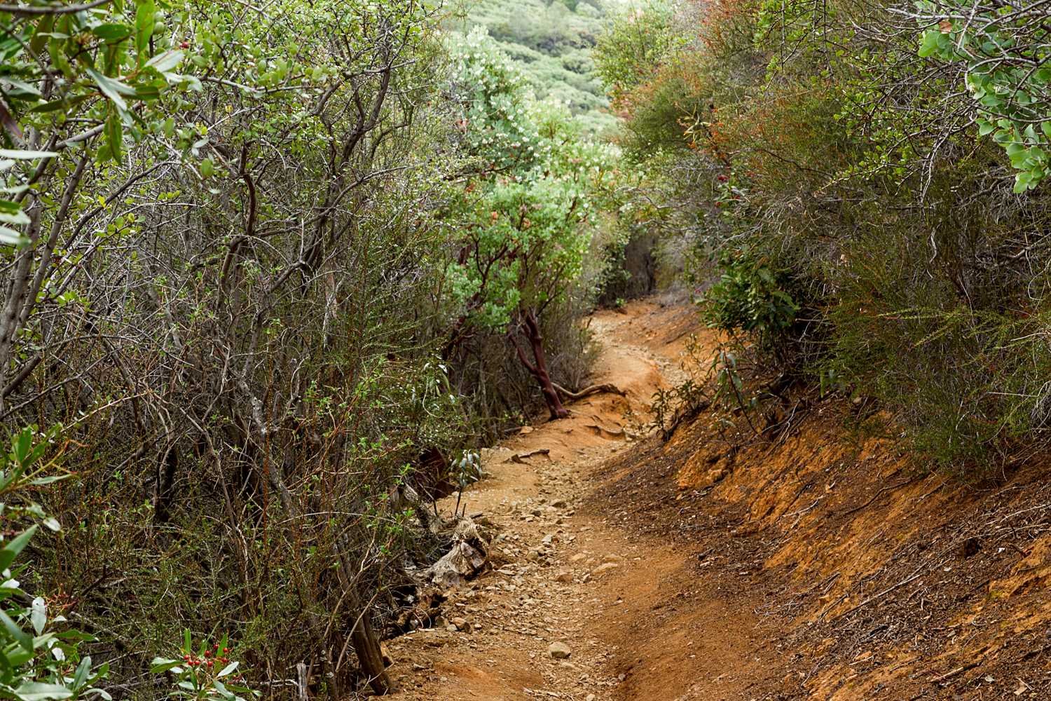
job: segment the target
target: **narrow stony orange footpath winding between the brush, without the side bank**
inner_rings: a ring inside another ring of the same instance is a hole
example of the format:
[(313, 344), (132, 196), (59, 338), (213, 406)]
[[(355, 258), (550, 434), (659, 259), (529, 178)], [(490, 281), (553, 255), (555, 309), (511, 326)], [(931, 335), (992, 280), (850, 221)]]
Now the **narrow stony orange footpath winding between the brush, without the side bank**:
[[(497, 529), (496, 570), (447, 602), (446, 611), (459, 612), (449, 618), (462, 617), (470, 634), (436, 628), (386, 642), (399, 696), (604, 700), (651, 677), (667, 688), (672, 641), (651, 639), (646, 623), (675, 616), (674, 597), (689, 590), (689, 575), (674, 548), (625, 534), (617, 525), (623, 514), (592, 502), (588, 480), (603, 460), (633, 449), (639, 436), (625, 415), (644, 416), (654, 391), (682, 377), (682, 344), (703, 331), (689, 307), (633, 303), (626, 312), (599, 312), (590, 322), (603, 348), (593, 379), (624, 396), (585, 397), (569, 405), (570, 418), (483, 451), (489, 476), (463, 498), (468, 512), (483, 512)], [(542, 449), (550, 453), (521, 457)], [(439, 508), (453, 503), (449, 497)], [(722, 604), (699, 614), (691, 618), (719, 620), (723, 632), (750, 624), (728, 620)], [(702, 669), (744, 663), (734, 646), (720, 644), (723, 635), (689, 623), (674, 626), (676, 662)], [(565, 643), (569, 657), (552, 657), (554, 642)], [(640, 659), (653, 668), (628, 681)]]

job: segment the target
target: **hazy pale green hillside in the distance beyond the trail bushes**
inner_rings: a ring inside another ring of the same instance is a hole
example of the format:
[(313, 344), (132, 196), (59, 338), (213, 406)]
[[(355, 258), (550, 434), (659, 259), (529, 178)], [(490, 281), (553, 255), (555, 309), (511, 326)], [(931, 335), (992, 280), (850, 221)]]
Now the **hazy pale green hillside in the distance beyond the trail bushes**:
[(489, 29), (499, 47), (530, 78), (539, 100), (570, 103), (594, 133), (612, 132), (617, 120), (601, 81), (591, 75), (591, 47), (602, 28), (600, 0), (479, 0), (451, 28), (462, 34)]

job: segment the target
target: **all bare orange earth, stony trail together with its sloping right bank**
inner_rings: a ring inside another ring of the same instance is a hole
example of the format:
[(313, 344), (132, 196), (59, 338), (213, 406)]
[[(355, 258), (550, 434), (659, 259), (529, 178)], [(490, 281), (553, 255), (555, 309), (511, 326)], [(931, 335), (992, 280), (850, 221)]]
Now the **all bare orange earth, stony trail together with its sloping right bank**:
[(689, 307), (628, 312), (592, 319), (596, 380), (624, 396), (486, 452), (465, 498), (495, 569), (445, 603), (455, 630), (387, 641), (400, 696), (1051, 699), (1043, 461), (916, 475), (892, 440), (851, 439), (859, 408), (802, 389), (765, 440), (706, 415), (635, 440), (625, 414), (705, 336)]

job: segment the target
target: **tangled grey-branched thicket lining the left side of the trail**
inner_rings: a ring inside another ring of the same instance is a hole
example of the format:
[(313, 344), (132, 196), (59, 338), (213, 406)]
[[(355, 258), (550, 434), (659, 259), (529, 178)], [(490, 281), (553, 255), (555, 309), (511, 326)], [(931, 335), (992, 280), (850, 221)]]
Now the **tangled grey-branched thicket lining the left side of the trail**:
[[(616, 153), (518, 83), (509, 111), (432, 3), (88, 5), (0, 7), (0, 418), (65, 426), (76, 466), (34, 586), (77, 593), (120, 696), (170, 690), (127, 682), (183, 628), (270, 696), (297, 664), (383, 693), (428, 497), (543, 407), (522, 316), (586, 375)], [(493, 285), (460, 265), (502, 247)], [(187, 668), (173, 693), (229, 698)]]

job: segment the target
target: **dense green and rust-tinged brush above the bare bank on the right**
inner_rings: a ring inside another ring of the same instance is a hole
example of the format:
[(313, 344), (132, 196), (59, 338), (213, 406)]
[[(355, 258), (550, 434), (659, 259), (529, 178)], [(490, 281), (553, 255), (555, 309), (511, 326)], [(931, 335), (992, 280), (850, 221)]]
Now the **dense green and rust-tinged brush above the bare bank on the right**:
[[(778, 377), (844, 391), (862, 417), (884, 409), (923, 466), (981, 474), (1043, 445), (1047, 95), (1030, 5), (621, 14), (676, 38), (644, 53), (615, 19), (596, 63), (713, 325)], [(760, 395), (755, 411), (782, 420), (783, 399)]]

